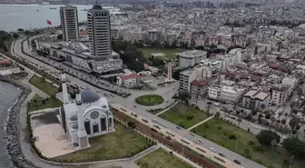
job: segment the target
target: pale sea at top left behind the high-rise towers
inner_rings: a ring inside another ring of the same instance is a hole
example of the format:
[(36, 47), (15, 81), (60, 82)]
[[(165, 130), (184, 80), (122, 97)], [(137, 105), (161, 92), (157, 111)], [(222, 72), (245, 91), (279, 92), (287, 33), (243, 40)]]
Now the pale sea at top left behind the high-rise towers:
[[(90, 9), (92, 5), (75, 6), (78, 22), (86, 21), (84, 9)], [(50, 20), (52, 26), (60, 25), (59, 8), (60, 5), (0, 5), (0, 30), (14, 32), (18, 28), (43, 28), (48, 26), (46, 20)]]

